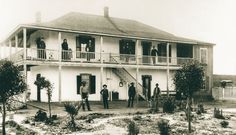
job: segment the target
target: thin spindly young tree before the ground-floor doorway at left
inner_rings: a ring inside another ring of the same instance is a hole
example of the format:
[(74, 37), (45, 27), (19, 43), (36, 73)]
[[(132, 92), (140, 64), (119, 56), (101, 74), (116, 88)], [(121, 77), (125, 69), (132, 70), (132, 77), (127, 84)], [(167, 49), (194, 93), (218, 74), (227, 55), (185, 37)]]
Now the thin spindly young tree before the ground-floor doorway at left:
[(48, 111), (49, 111), (49, 118), (51, 119), (52, 113), (51, 113), (51, 98), (52, 98), (52, 89), (53, 85), (49, 80), (46, 80), (45, 77), (40, 76), (37, 78), (37, 80), (34, 82), (36, 86), (38, 86), (41, 89), (46, 89), (47, 96), (48, 96)]

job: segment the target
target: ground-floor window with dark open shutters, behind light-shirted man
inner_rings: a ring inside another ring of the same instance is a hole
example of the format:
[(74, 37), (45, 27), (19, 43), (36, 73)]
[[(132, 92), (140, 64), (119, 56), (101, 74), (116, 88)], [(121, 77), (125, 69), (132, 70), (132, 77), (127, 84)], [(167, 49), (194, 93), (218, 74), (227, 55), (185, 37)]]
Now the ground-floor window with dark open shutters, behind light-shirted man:
[(86, 82), (86, 85), (88, 85), (89, 94), (95, 94), (96, 93), (96, 76), (93, 76), (91, 74), (81, 74), (77, 76), (77, 94), (80, 94), (80, 86), (81, 82)]

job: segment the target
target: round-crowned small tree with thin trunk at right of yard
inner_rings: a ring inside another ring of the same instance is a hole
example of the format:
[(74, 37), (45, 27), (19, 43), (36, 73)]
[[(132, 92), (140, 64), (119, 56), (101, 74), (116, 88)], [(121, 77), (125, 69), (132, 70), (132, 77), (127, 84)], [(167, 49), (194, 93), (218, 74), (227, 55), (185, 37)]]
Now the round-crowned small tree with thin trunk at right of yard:
[(200, 90), (203, 86), (204, 71), (201, 64), (197, 61), (191, 61), (177, 70), (174, 75), (174, 84), (177, 92), (187, 97), (187, 117), (189, 123), (189, 132), (191, 132), (190, 122), (190, 99), (193, 98), (194, 92)]

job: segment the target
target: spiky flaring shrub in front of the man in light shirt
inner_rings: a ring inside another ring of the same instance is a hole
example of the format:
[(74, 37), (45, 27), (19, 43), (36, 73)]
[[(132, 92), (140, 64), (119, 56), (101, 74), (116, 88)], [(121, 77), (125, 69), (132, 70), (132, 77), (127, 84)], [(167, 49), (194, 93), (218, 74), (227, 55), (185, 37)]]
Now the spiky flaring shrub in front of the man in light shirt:
[(75, 123), (75, 117), (78, 115), (78, 111), (81, 107), (81, 104), (78, 105), (76, 103), (66, 102), (64, 103), (64, 107), (65, 107), (65, 111), (70, 116), (70, 121), (68, 122), (67, 126), (73, 131), (76, 131), (77, 127)]

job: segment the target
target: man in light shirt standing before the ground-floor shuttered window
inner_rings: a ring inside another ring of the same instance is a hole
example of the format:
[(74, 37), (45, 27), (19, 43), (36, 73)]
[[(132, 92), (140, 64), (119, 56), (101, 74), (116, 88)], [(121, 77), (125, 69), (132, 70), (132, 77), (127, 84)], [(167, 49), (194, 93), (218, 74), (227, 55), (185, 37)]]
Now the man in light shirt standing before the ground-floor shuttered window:
[(88, 111), (92, 111), (90, 109), (90, 105), (89, 105), (89, 101), (88, 101), (89, 90), (88, 90), (88, 86), (86, 85), (86, 82), (82, 82), (82, 85), (80, 86), (80, 93), (81, 93), (83, 110), (85, 111), (85, 104), (86, 104)]

